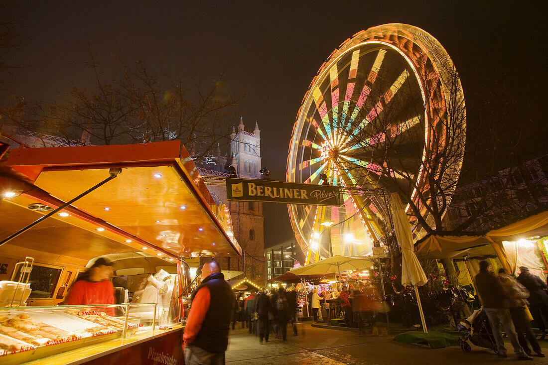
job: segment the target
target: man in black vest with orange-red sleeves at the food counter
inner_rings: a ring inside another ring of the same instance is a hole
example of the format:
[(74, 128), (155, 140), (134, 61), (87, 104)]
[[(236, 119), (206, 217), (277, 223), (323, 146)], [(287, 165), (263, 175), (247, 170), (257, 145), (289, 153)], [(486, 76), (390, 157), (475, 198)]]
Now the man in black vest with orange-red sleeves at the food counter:
[(186, 320), (185, 364), (224, 364), (235, 294), (216, 261), (203, 265), (202, 283), (192, 295)]

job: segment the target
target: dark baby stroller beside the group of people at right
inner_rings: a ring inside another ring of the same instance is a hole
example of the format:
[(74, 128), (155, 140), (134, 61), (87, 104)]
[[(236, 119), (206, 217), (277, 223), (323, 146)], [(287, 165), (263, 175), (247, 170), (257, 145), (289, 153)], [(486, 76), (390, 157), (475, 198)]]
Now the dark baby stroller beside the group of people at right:
[(483, 309), (474, 311), (470, 317), (460, 322), (458, 329), (463, 332), (463, 336), (459, 339), (459, 346), (464, 352), (472, 351), (470, 344), (467, 343), (467, 340), (470, 340), (476, 346), (499, 353), (496, 349), (493, 330)]

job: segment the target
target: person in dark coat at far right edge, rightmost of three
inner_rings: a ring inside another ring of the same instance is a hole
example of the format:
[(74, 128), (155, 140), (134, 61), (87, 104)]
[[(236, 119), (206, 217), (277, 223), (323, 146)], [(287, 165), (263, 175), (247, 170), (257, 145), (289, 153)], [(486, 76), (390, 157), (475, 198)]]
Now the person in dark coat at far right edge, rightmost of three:
[[(529, 272), (529, 267), (520, 266), (520, 275), (517, 277), (517, 281), (521, 283), (527, 290), (529, 290), (529, 309), (533, 320), (541, 332), (546, 332), (545, 321), (548, 322), (548, 304), (546, 294), (546, 283), (541, 280), (540, 277), (533, 275)], [(543, 320), (543, 315), (545, 320)]]

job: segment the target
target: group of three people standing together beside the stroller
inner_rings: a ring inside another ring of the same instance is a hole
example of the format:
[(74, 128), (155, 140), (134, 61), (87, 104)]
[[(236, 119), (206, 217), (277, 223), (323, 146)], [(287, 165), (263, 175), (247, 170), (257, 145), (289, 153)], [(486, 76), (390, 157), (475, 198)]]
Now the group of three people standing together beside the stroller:
[(520, 275), (517, 279), (507, 275), (504, 269), (500, 269), (498, 275), (495, 275), (492, 265), (486, 260), (480, 261), (475, 281), (477, 292), (483, 302), (483, 310), (493, 330), (498, 356), (507, 357), (500, 328), (502, 326), (519, 360), (532, 360), (532, 350), (527, 342), (535, 356), (544, 357), (527, 315), (530, 311), (541, 332), (546, 331), (546, 283), (530, 273), (526, 266), (520, 266)]

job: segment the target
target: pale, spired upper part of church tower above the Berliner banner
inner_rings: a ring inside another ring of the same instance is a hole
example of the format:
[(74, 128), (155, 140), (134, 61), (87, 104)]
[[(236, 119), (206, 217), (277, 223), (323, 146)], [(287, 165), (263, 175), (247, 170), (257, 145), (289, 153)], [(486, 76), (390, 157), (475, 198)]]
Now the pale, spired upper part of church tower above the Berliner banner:
[(236, 168), (238, 178), (260, 179), (261, 138), (259, 124), (255, 123), (253, 133), (247, 132), (240, 118), (238, 128), (232, 128), (230, 134), (230, 153), (232, 166)]

